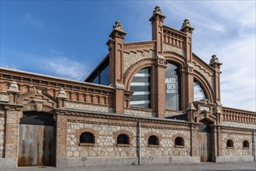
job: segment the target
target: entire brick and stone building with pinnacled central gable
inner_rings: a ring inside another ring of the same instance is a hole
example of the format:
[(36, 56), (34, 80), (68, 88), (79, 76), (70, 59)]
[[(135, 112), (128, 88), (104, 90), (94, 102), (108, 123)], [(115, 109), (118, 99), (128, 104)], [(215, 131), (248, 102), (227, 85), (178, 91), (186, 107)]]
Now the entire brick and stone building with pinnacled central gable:
[(222, 63), (164, 19), (132, 43), (117, 21), (85, 82), (0, 68), (0, 169), (254, 161), (256, 113), (222, 106)]

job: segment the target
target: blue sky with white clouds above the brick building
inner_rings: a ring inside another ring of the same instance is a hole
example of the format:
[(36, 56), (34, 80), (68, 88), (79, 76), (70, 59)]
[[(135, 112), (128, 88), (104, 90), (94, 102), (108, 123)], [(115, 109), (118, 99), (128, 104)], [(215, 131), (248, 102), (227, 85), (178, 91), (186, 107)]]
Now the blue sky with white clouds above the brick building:
[(159, 5), (164, 24), (195, 27), (193, 51), (223, 62), (224, 106), (256, 110), (255, 1), (1, 1), (0, 65), (83, 80), (107, 54), (114, 22), (125, 42), (151, 40), (149, 22)]

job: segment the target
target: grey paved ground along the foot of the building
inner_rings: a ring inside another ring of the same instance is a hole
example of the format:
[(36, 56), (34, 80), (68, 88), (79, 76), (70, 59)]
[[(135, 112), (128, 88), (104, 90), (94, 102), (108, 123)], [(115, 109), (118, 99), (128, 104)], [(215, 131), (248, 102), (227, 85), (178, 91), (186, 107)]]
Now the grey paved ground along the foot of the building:
[(19, 167), (18, 169), (2, 169), (1, 171), (256, 171), (256, 162), (230, 162), (230, 163), (215, 163), (215, 162), (201, 162), (197, 164), (173, 164), (173, 165), (142, 165), (142, 166), (94, 166), (94, 167), (75, 167), (75, 168), (55, 168), (55, 167)]

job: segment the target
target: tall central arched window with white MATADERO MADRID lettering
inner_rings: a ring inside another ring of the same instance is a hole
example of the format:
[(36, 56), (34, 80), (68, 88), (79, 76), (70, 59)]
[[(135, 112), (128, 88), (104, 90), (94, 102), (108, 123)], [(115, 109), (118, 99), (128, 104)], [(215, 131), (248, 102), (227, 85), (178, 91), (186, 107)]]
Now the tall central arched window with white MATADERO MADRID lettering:
[(165, 72), (165, 103), (166, 108), (171, 110), (180, 110), (180, 69), (172, 63), (167, 64)]

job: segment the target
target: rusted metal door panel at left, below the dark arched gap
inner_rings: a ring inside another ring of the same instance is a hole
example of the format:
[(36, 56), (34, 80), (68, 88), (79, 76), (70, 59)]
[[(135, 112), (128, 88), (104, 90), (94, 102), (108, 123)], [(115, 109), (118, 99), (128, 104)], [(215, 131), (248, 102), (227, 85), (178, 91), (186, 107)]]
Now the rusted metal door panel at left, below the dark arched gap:
[(54, 126), (19, 124), (18, 166), (54, 166)]

